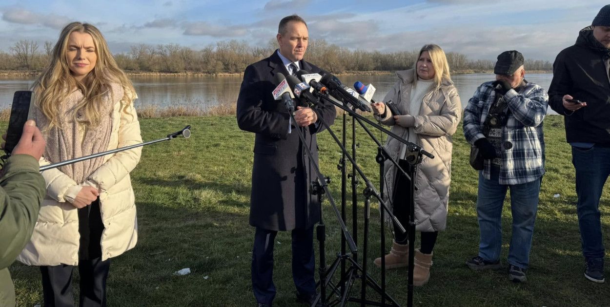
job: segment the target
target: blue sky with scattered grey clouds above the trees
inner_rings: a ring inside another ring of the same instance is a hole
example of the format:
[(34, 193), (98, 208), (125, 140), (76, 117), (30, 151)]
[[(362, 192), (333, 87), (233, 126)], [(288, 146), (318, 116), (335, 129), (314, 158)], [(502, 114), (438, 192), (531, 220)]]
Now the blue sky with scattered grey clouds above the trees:
[(0, 49), (9, 52), (19, 40), (37, 41), (43, 49), (70, 21), (98, 27), (113, 54), (135, 44), (198, 50), (235, 39), (268, 46), (279, 20), (296, 13), (306, 20), (310, 38), (352, 50), (411, 51), (435, 43), (470, 59), (495, 60), (516, 49), (526, 59), (552, 62), (605, 1), (3, 0)]

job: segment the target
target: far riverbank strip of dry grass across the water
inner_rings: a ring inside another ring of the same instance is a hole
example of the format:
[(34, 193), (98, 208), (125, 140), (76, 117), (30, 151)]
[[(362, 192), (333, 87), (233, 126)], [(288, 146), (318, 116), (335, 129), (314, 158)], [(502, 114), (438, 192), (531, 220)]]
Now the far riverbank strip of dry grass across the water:
[[(551, 70), (526, 70), (528, 74), (545, 74), (551, 73)], [(344, 71), (339, 72), (336, 76), (389, 76), (395, 71)], [(40, 71), (0, 71), (0, 77), (36, 77)], [(242, 77), (242, 72), (219, 72), (211, 74), (209, 72), (154, 72), (154, 71), (126, 71), (129, 77)], [(451, 74), (493, 74), (493, 70), (485, 69), (461, 69), (452, 71)]]

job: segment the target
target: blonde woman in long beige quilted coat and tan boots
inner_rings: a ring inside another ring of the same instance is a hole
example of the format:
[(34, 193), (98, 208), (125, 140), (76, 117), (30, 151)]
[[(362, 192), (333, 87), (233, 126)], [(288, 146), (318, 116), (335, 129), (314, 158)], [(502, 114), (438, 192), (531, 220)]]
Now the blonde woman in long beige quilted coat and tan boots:
[[(451, 182), (452, 135), (456, 132), (462, 107), (451, 76), (445, 52), (436, 44), (426, 44), (420, 50), (413, 69), (398, 71), (398, 80), (383, 101), (392, 99), (401, 115), (392, 114), (382, 102), (372, 104), (375, 118), (391, 125), (392, 132), (421, 146), (435, 156), (424, 157), (418, 166), (415, 184), (415, 230), (421, 231), (421, 248), (415, 249), (413, 284), (423, 286), (430, 278), (432, 249), (440, 230), (447, 225), (447, 206)], [(388, 137), (386, 149), (407, 170), (406, 145)], [(407, 228), (409, 225), (410, 182), (391, 161), (386, 161), (384, 195), (393, 208), (393, 214)], [(395, 228), (392, 251), (386, 255), (386, 269), (405, 267), (408, 264), (408, 233)], [(407, 228), (408, 230), (408, 228)], [(381, 267), (381, 258), (375, 259)]]

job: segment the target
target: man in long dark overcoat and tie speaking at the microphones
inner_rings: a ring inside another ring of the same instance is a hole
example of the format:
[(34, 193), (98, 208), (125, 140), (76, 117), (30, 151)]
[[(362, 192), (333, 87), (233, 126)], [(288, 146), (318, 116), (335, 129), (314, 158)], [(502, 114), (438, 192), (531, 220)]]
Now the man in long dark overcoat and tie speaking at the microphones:
[[(250, 225), (256, 227), (252, 255), (252, 287), (258, 306), (271, 306), (276, 294), (273, 284), (273, 245), (279, 230), (292, 230), (292, 275), (298, 300), (310, 304), (315, 298), (314, 224), (320, 220), (320, 204), (308, 192), (316, 173), (318, 150), (315, 133), (323, 130), (317, 115), (309, 107), (298, 107), (296, 122), (281, 101), (273, 99), (273, 77), (294, 75), (298, 70), (310, 73), (320, 68), (303, 60), (307, 49), (307, 24), (299, 16), (282, 19), (278, 29), (279, 49), (243, 74), (237, 99), (237, 123), (240, 129), (256, 133)], [(292, 89), (291, 89), (292, 90)], [(295, 105), (299, 102), (295, 99)], [(321, 117), (332, 124), (333, 105), (317, 107)], [(296, 133), (305, 136), (303, 144)], [(303, 146), (313, 153), (311, 161)]]

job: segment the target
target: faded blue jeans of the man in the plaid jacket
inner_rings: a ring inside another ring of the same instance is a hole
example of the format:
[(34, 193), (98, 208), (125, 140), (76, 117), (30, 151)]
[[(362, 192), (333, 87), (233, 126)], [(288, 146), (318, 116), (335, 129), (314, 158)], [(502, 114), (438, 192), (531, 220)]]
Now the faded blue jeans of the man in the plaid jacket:
[(479, 256), (487, 261), (498, 261), (502, 248), (502, 206), (506, 189), (511, 190), (512, 238), (508, 252), (508, 263), (527, 269), (529, 250), (534, 234), (534, 222), (538, 210), (540, 178), (520, 185), (500, 185), (497, 174), (487, 180), (479, 172), (479, 194), (476, 213), (481, 231)]

